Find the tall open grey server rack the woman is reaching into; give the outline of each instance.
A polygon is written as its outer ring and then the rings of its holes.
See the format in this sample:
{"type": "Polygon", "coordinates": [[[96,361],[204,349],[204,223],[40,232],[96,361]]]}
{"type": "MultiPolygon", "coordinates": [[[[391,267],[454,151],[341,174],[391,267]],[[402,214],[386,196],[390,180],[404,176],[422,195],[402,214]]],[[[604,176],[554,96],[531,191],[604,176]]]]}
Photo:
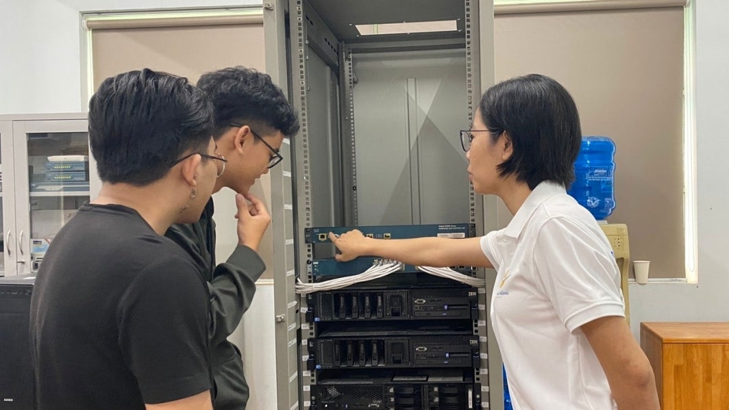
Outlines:
{"type": "MultiPolygon", "coordinates": [[[[468,312],[468,325],[461,326],[466,329],[461,335],[466,343],[477,344],[470,372],[431,367],[428,371],[436,382],[424,378],[424,366],[404,365],[368,369],[373,372],[368,377],[358,374],[348,380],[350,376],[343,377],[343,370],[334,366],[337,355],[333,352],[329,368],[321,363],[316,368],[310,360],[313,350],[334,339],[337,342],[330,347],[339,346],[340,363],[351,356],[354,367],[360,355],[364,363],[371,363],[374,346],[394,346],[388,341],[403,335],[387,336],[383,328],[356,323],[352,334],[369,332],[372,339],[369,344],[361,344],[356,337],[347,342],[346,336],[337,334],[342,328],[312,321],[312,304],[318,296],[312,299],[294,291],[297,278],[305,283],[316,280],[311,264],[319,256],[306,240],[307,229],[315,226],[467,222],[474,224],[477,234],[483,234],[484,227],[494,227],[495,221],[484,216],[483,197],[464,181],[466,162],[457,134],[471,122],[481,90],[493,83],[492,4],[279,0],[264,2],[263,7],[267,71],[278,84],[289,85],[289,99],[302,125],[290,144],[282,146],[284,157],[292,161],[271,174],[273,218],[284,221],[274,224],[273,240],[286,244],[274,247],[273,267],[278,409],[319,409],[312,401],[324,393],[354,394],[362,386],[358,383],[371,385],[376,380],[380,382],[374,390],[380,389],[379,393],[371,394],[391,400],[408,396],[405,402],[418,403],[403,409],[434,409],[438,405],[432,400],[440,400],[440,392],[455,406],[444,409],[459,409],[455,397],[469,389],[478,397],[471,403],[497,408],[489,406],[488,398],[486,288],[474,289],[475,309],[468,312]],[[457,28],[375,36],[358,35],[355,28],[360,23],[436,20],[455,20],[457,28]],[[388,118],[396,120],[388,122],[388,118]],[[398,123],[397,119],[403,120],[398,123]],[[456,184],[456,178],[461,183],[456,184]],[[334,336],[327,339],[326,331],[334,336]]],[[[494,205],[490,201],[486,200],[488,207],[494,205]]],[[[486,273],[475,275],[485,277],[486,273]]],[[[411,291],[398,283],[383,286],[373,292],[411,291]]],[[[347,292],[355,291],[343,291],[347,292]]],[[[403,340],[412,342],[417,337],[414,327],[403,340]]],[[[394,408],[405,406],[402,403],[394,408]]],[[[336,407],[332,403],[327,408],[336,407]]]]}

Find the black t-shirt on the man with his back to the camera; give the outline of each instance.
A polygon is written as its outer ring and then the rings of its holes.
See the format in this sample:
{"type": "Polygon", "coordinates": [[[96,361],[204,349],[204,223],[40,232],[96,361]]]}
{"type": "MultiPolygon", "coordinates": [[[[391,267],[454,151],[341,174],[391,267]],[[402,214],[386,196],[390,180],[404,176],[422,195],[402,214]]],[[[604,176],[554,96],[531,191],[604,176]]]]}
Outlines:
{"type": "Polygon", "coordinates": [[[135,210],[83,205],[31,299],[38,408],[144,409],[209,390],[200,269],[135,210]]]}

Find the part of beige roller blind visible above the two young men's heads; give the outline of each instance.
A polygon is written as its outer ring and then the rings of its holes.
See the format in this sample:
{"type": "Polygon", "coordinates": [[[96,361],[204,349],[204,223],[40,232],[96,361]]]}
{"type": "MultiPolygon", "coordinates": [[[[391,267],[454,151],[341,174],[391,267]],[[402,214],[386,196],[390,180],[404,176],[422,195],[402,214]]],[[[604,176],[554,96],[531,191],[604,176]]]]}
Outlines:
{"type": "Polygon", "coordinates": [[[168,71],[192,82],[200,74],[229,66],[265,70],[263,20],[111,20],[87,23],[91,30],[93,89],[104,79],[139,68],[168,71]]]}

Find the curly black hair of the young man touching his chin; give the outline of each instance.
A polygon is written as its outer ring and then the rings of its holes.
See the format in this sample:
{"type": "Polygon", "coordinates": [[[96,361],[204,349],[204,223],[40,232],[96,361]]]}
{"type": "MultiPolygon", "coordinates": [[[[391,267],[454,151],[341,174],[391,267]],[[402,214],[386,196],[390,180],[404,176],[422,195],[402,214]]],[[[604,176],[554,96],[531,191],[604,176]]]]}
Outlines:
{"type": "Polygon", "coordinates": [[[268,74],[243,66],[223,68],[200,76],[198,87],[213,103],[216,139],[230,124],[265,134],[278,130],[286,138],[299,131],[296,110],[268,74]]]}

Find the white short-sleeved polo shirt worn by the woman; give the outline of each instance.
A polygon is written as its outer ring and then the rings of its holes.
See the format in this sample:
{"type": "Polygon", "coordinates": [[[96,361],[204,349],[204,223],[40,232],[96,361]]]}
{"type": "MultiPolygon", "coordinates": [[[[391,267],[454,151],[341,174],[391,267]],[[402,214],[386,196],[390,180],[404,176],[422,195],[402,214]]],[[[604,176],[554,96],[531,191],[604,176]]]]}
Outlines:
{"type": "Polygon", "coordinates": [[[514,409],[617,409],[580,330],[625,316],[620,272],[595,218],[563,186],[542,182],[481,248],[498,272],[491,325],[514,409]]]}

